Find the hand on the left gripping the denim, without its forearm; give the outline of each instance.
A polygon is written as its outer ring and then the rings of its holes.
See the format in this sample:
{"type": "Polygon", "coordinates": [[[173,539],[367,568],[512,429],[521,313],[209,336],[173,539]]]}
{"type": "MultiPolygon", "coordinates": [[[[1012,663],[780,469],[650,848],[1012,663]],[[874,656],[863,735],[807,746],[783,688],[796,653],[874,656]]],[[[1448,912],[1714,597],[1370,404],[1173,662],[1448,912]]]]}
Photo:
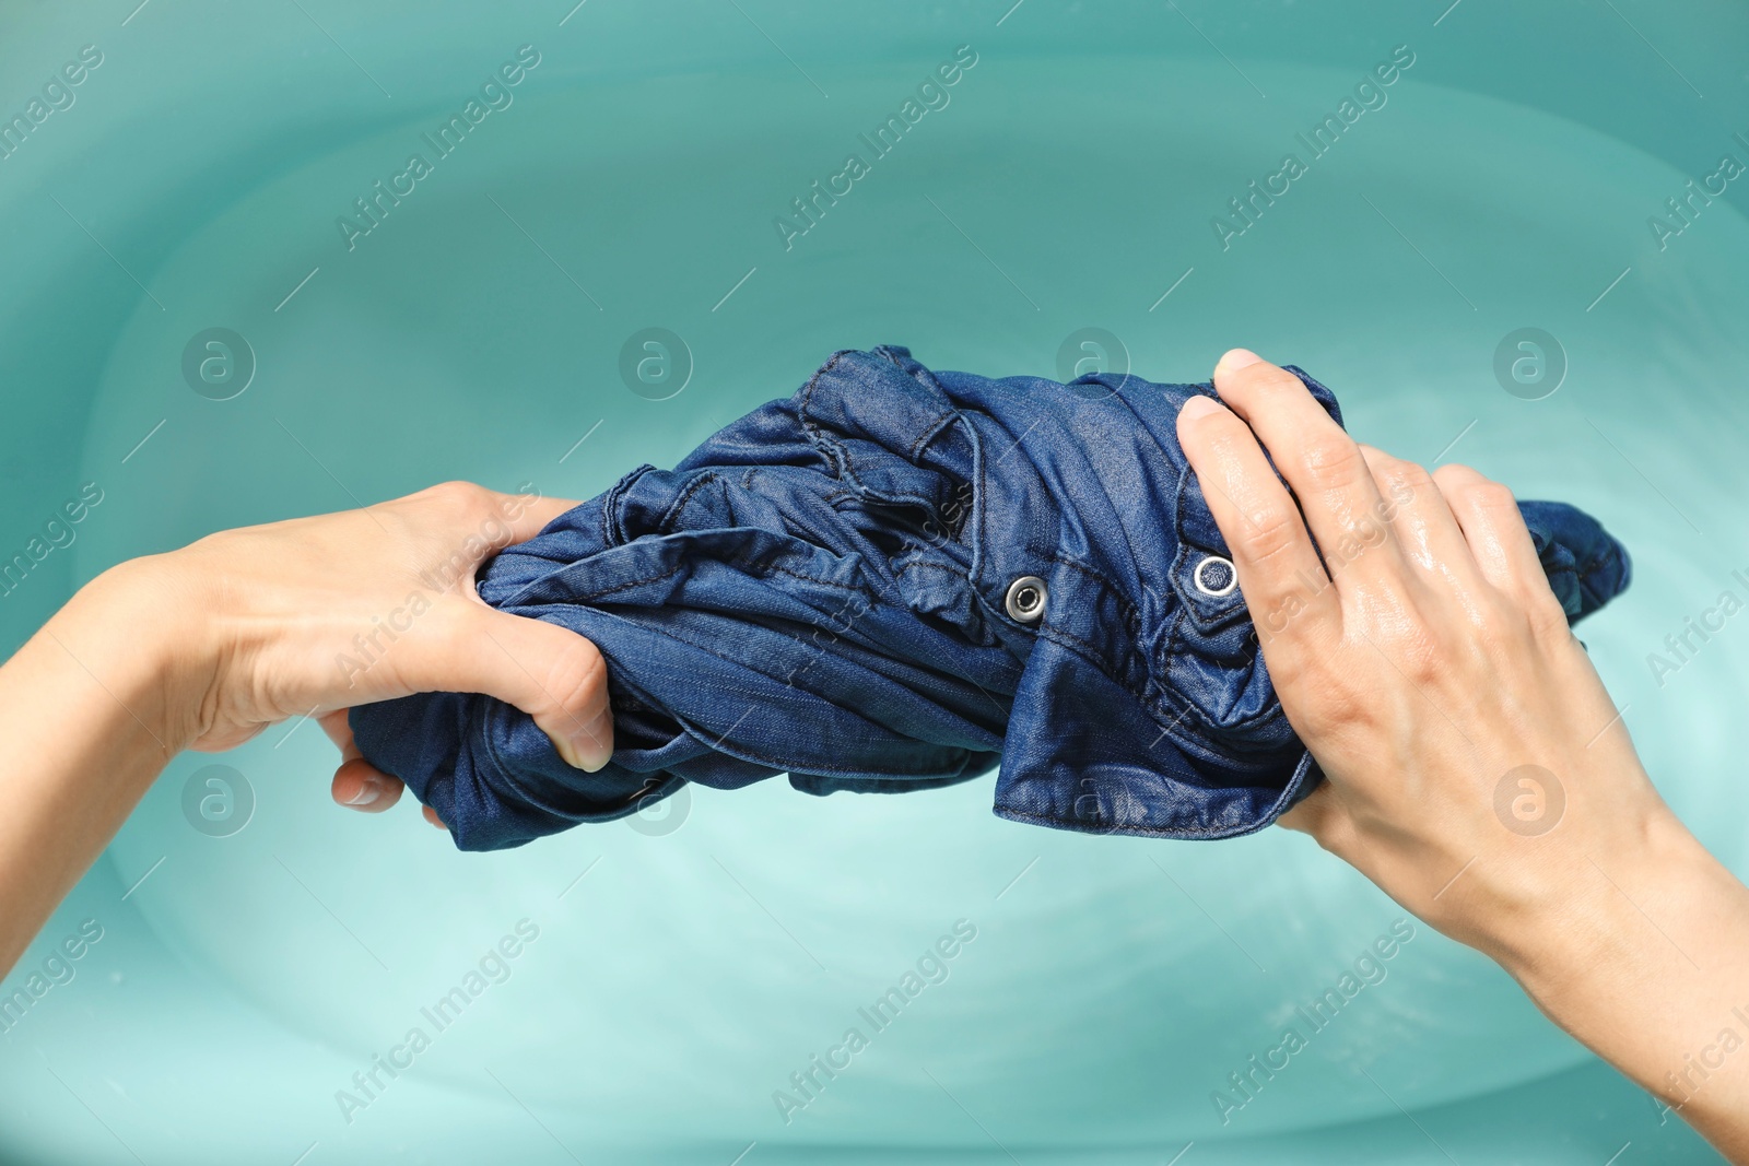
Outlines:
{"type": "Polygon", "coordinates": [[[533,717],[567,762],[600,769],[614,739],[602,654],[474,591],[486,558],[574,505],[446,482],[364,510],[220,531],[131,565],[171,610],[199,614],[187,650],[205,691],[170,732],[227,750],[313,715],[341,748],[334,801],[374,813],[402,787],[359,755],[346,710],[484,692],[533,717]]]}

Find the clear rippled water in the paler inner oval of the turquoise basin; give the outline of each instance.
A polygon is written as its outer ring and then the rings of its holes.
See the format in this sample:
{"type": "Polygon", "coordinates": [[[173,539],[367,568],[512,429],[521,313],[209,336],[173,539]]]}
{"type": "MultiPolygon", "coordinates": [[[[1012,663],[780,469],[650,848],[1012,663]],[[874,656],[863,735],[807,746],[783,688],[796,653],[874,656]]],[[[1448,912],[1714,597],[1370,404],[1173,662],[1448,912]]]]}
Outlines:
{"type": "MultiPolygon", "coordinates": [[[[733,107],[707,79],[628,82],[617,119],[523,91],[355,246],[336,215],[432,119],[311,154],[192,231],[152,278],[166,309],[115,337],[84,453],[101,523],[70,552],[96,568],[448,477],[591,496],[843,346],[1051,374],[1067,344],[1177,381],[1244,343],[1331,385],[1364,441],[1572,502],[1628,545],[1632,591],[1581,638],[1665,797],[1742,874],[1749,621],[1719,594],[1749,600],[1749,231],[1718,205],[1658,250],[1644,220],[1681,175],[1413,68],[1233,231],[1231,199],[1355,91],[1272,77],[1247,103],[1219,63],[979,59],[799,238],[773,220],[799,222],[798,192],[911,80],[840,72],[813,105],[747,75],[733,107]],[[649,149],[682,121],[687,149],[649,149]]],[[[187,809],[212,759],[184,757],[110,860],[126,886],[168,857],[129,899],[157,937],[338,1054],[280,1084],[334,1136],[394,1121],[409,1089],[383,1063],[603,1135],[988,1147],[985,1126],[1028,1147],[1329,1126],[1585,1058],[1286,832],[1090,839],[993,820],[988,780],[822,801],[771,781],[481,858],[409,809],[336,811],[313,725],[224,760],[245,827],[194,823],[224,799],[187,809]],[[539,942],[481,970],[525,921],[539,942]],[[953,958],[923,968],[943,935],[953,958]]]]}

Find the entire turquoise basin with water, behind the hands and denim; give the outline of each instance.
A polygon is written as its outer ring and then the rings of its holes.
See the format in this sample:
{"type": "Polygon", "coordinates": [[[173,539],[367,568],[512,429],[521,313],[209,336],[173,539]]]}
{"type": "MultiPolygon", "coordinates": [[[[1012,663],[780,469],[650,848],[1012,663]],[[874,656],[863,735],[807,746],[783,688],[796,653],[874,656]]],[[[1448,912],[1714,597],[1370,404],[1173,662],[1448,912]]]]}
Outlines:
{"type": "MultiPolygon", "coordinates": [[[[75,103],[0,161],[0,558],[80,484],[103,502],[0,598],[7,645],[217,528],[449,477],[591,496],[834,348],[1051,374],[1100,327],[1200,379],[1244,343],[1366,441],[1630,545],[1585,642],[1669,801],[1749,871],[1749,633],[1662,684],[1646,659],[1749,572],[1744,182],[1663,250],[1648,227],[1749,163],[1740,5],[14,2],[0,115],[87,44],[75,103]],[[348,250],[336,219],[523,44],[512,105],[348,250]],[[785,250],[773,217],[962,44],[946,108],[785,250]],[[1223,250],[1210,219],[1404,44],[1387,103],[1223,250]],[[229,400],[182,374],[213,327],[255,360],[229,400]],[[647,327],[691,355],[666,400],[621,379],[647,327]],[[1494,374],[1523,327],[1567,362],[1541,400],[1494,374]]],[[[1401,918],[1300,836],[1037,830],[988,780],[766,783],[462,855],[411,801],[336,809],[332,762],[292,722],[171,764],[5,982],[100,921],[0,1035],[0,1157],[1716,1161],[1424,927],[1223,1124],[1210,1093],[1401,918]],[[226,837],[184,815],[215,762],[254,792],[226,837]],[[348,1122],[352,1073],[519,920],[509,979],[348,1122]],[[948,979],[785,1124],[773,1091],[957,920],[948,979]]]]}

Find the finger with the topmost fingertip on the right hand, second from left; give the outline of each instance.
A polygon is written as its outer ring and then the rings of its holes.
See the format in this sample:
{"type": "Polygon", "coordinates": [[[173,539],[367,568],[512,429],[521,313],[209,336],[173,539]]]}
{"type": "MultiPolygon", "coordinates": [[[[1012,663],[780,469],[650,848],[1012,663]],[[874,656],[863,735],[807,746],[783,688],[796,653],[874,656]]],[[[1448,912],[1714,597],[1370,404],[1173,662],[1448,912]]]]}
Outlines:
{"type": "MultiPolygon", "coordinates": [[[[1373,474],[1354,439],[1313,400],[1300,378],[1244,348],[1221,357],[1214,369],[1214,386],[1221,400],[1251,425],[1270,451],[1275,468],[1298,495],[1312,537],[1324,552],[1354,545],[1348,540],[1361,538],[1362,523],[1380,507],[1373,474]]],[[[1355,556],[1362,579],[1399,565],[1390,537],[1383,538],[1376,552],[1355,556]]],[[[1333,579],[1338,591],[1343,589],[1343,580],[1333,579]]]]}

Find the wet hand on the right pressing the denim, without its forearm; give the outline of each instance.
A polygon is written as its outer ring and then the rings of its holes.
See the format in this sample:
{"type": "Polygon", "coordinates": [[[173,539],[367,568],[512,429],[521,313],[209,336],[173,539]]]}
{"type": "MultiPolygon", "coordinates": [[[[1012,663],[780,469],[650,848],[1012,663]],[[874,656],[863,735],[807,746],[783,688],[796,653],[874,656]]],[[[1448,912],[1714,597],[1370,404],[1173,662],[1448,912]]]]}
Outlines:
{"type": "Polygon", "coordinates": [[[1249,353],[1223,358],[1216,390],[1228,409],[1191,399],[1181,441],[1287,718],[1329,776],[1282,825],[1483,949],[1513,940],[1572,858],[1637,853],[1669,825],[1509,489],[1355,444],[1249,353]]]}

